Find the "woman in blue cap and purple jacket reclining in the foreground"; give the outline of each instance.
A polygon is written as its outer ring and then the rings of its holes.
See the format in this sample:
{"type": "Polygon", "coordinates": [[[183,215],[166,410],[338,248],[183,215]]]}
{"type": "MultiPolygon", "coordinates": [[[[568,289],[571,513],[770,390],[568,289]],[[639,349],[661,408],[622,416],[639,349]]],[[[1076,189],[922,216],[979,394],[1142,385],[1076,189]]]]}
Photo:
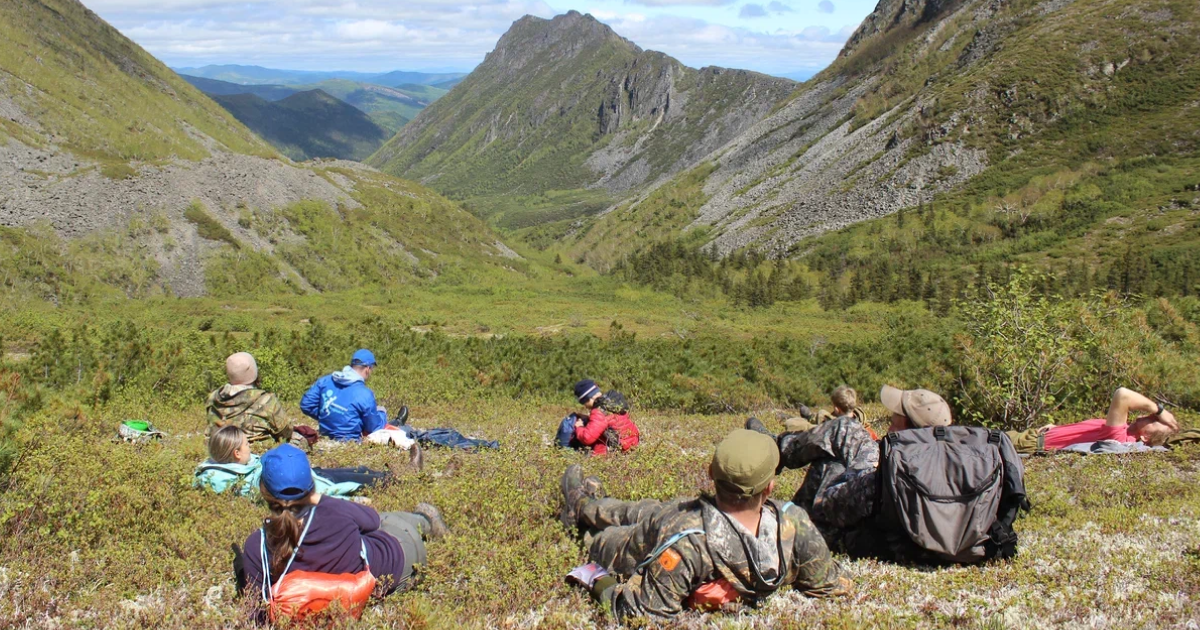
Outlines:
{"type": "MultiPolygon", "coordinates": [[[[383,594],[407,590],[426,562],[425,540],[448,533],[437,508],[419,503],[412,512],[383,512],[326,497],[318,492],[312,468],[304,451],[290,445],[263,455],[259,488],[270,508],[263,527],[246,539],[241,556],[234,559],[238,590],[250,588],[270,605],[274,599],[298,588],[284,583],[298,571],[353,577],[370,569],[383,594]],[[349,574],[349,575],[347,575],[349,574]]],[[[366,590],[370,595],[371,589],[366,590]]],[[[343,602],[353,608],[354,604],[343,602]]]]}

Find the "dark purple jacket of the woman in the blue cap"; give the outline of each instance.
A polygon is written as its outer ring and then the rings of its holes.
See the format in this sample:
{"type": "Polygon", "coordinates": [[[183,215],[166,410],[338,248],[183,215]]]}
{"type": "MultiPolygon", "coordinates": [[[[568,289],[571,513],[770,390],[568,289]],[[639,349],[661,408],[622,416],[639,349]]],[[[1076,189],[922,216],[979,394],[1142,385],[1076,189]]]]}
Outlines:
{"type": "MultiPolygon", "coordinates": [[[[335,497],[320,497],[316,512],[304,512],[301,520],[316,514],[289,571],[356,574],[362,570],[361,545],[366,542],[371,574],[394,590],[404,570],[404,551],[391,534],[379,529],[379,512],[335,497]]],[[[256,529],[246,538],[245,568],[250,593],[263,588],[262,535],[256,529]]],[[[271,583],[280,580],[272,575],[271,583]]]]}

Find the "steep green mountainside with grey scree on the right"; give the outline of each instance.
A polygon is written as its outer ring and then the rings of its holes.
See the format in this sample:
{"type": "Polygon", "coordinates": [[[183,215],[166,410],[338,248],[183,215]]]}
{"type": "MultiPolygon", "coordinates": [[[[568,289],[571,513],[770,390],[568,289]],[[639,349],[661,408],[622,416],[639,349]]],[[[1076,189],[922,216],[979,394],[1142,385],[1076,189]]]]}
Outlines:
{"type": "Polygon", "coordinates": [[[788,256],[829,304],[949,304],[1013,263],[1194,294],[1198,95],[1194,2],[884,0],[704,172],[564,242],[601,269],[638,235],[788,256]]]}

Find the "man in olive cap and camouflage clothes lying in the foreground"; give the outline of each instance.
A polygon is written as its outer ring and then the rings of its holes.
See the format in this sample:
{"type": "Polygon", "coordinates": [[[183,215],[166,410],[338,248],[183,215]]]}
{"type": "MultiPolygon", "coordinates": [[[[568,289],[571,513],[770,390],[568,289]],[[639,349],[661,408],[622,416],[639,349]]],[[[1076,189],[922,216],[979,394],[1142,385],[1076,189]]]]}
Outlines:
{"type": "Polygon", "coordinates": [[[708,467],[715,494],[673,502],[605,498],[600,480],[572,464],[560,518],[588,534],[590,563],[568,581],[618,618],[737,610],[785,586],[810,596],[847,593],[851,582],[804,510],[770,499],[778,463],[773,440],[734,431],[708,467]]]}

